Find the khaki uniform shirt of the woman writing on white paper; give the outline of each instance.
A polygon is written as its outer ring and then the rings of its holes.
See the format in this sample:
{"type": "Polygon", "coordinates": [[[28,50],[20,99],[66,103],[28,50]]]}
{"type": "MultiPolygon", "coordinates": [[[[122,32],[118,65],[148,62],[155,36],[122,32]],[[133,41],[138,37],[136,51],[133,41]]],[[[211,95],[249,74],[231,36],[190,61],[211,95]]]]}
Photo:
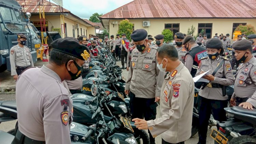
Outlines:
{"type": "MultiPolygon", "coordinates": [[[[196,76],[200,75],[200,71],[209,71],[209,74],[212,75],[213,71],[217,68],[219,63],[221,63],[223,59],[221,56],[218,56],[216,59],[211,60],[209,58],[202,59],[199,63],[196,76]]],[[[234,83],[233,80],[233,72],[230,65],[230,62],[228,60],[225,60],[222,66],[217,70],[217,73],[214,75],[215,80],[210,81],[211,83],[217,83],[224,86],[229,86],[234,83]],[[224,78],[226,77],[226,78],[224,78]]],[[[228,96],[223,96],[222,94],[222,88],[212,88],[205,86],[202,90],[202,87],[199,90],[199,95],[201,97],[207,98],[207,99],[215,99],[215,100],[227,100],[228,96]]]]}

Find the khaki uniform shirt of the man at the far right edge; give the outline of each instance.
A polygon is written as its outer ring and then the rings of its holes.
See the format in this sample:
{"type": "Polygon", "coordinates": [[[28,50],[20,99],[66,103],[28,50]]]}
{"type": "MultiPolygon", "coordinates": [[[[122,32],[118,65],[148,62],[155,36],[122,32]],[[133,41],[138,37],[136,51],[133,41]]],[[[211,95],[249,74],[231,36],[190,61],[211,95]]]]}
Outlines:
{"type": "Polygon", "coordinates": [[[232,95],[233,99],[236,99],[236,97],[249,98],[246,102],[250,102],[256,108],[256,58],[254,57],[238,67],[232,95]],[[252,84],[248,84],[250,82],[252,84]]]}

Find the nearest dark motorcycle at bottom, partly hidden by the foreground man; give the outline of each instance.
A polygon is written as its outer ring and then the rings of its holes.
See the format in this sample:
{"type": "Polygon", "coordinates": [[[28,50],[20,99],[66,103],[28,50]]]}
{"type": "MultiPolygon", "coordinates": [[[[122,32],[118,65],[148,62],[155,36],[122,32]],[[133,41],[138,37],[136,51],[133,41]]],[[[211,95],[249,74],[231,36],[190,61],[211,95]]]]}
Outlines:
{"type": "MultiPolygon", "coordinates": [[[[94,92],[97,94],[96,89],[94,92]]],[[[72,122],[70,128],[72,144],[137,144],[133,136],[133,129],[126,119],[121,119],[122,121],[120,121],[117,118],[112,118],[108,123],[105,123],[104,119],[101,121],[99,118],[103,115],[100,107],[90,105],[90,111],[92,113],[91,119],[97,119],[96,123],[85,126],[72,122]]],[[[1,101],[0,123],[15,119],[17,119],[16,101],[1,101]]],[[[11,131],[4,132],[0,130],[0,143],[10,144],[14,139],[16,130],[17,123],[16,128],[11,131]]]]}

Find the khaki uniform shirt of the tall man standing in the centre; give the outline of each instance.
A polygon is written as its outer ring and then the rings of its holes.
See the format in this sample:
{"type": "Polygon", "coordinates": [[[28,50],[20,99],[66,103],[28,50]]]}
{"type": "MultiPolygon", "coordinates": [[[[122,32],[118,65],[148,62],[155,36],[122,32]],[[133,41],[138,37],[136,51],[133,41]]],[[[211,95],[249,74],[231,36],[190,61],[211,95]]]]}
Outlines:
{"type": "Polygon", "coordinates": [[[133,49],[125,90],[140,98],[160,97],[163,72],[157,68],[157,63],[155,48],[149,47],[144,53],[133,49]]]}

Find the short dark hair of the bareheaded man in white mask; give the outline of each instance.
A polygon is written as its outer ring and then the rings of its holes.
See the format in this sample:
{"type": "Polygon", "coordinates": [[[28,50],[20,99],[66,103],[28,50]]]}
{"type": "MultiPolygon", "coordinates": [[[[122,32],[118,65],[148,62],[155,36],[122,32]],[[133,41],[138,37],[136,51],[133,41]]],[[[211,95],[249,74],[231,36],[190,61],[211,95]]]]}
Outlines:
{"type": "Polygon", "coordinates": [[[174,45],[162,45],[157,49],[158,57],[163,58],[164,56],[168,57],[172,61],[179,59],[179,54],[174,45]]]}

